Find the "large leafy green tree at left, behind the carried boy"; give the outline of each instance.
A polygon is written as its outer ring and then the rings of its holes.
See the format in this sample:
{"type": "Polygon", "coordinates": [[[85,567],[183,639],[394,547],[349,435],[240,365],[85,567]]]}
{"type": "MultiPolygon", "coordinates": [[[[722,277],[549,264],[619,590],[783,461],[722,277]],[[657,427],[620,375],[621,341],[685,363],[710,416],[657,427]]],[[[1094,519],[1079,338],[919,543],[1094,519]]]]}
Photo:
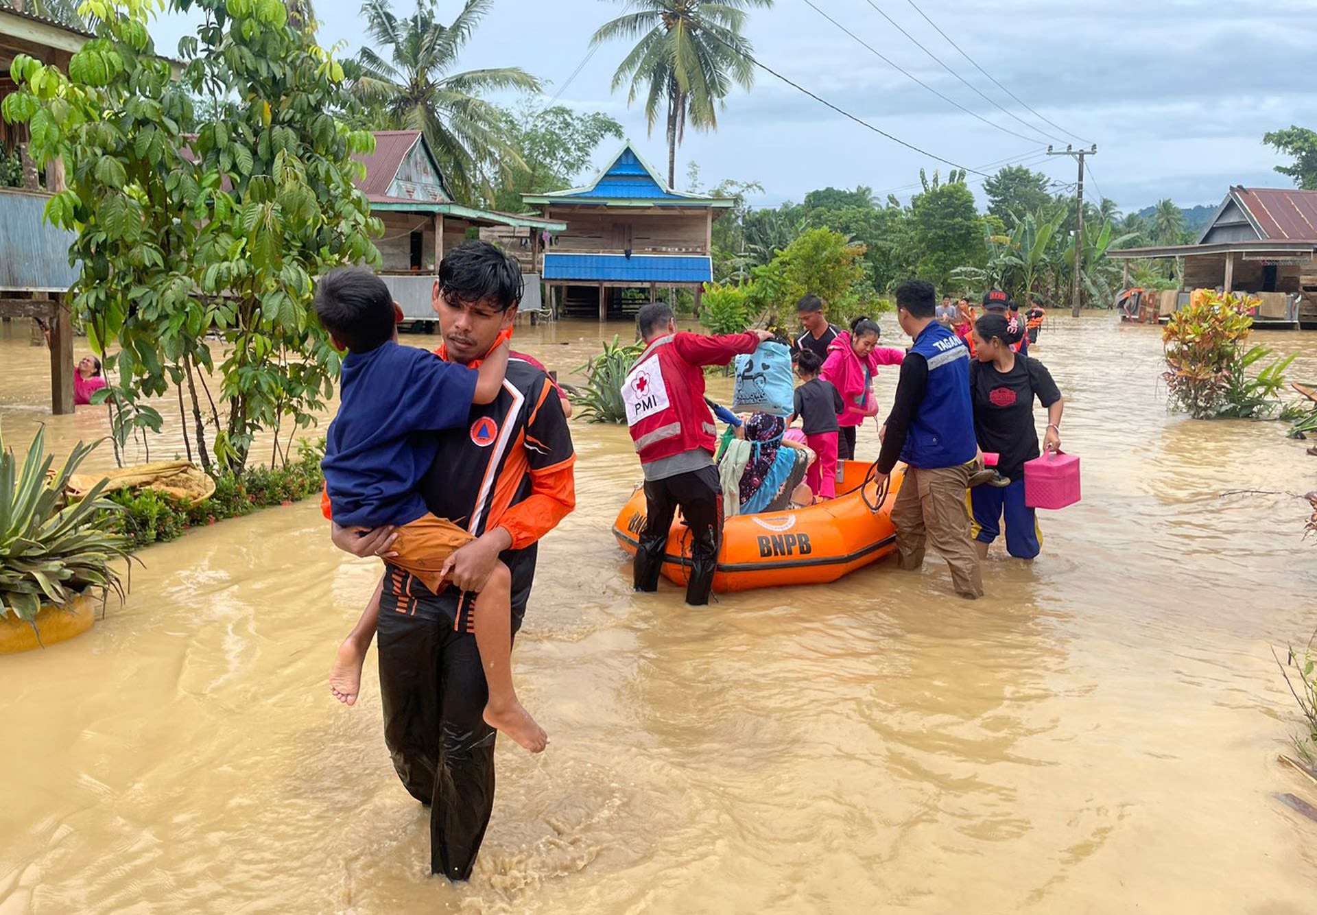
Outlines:
{"type": "Polygon", "coordinates": [[[170,0],[202,17],[179,43],[180,76],[148,33],[155,5],[88,0],[97,38],[67,76],[20,55],[4,116],[30,125],[40,162],[70,165],[46,217],[76,233],[72,304],[113,379],[97,402],[112,404],[116,442],[158,432],[146,398],[174,386],[191,407],[188,450],[241,471],[258,433],[309,425],[333,391],[338,357],[309,309],[311,278],[378,259],[352,161],[374,141],[328,113],[350,101],[342,67],[279,0],[170,0]],[[207,118],[196,96],[232,104],[207,118]]]}

